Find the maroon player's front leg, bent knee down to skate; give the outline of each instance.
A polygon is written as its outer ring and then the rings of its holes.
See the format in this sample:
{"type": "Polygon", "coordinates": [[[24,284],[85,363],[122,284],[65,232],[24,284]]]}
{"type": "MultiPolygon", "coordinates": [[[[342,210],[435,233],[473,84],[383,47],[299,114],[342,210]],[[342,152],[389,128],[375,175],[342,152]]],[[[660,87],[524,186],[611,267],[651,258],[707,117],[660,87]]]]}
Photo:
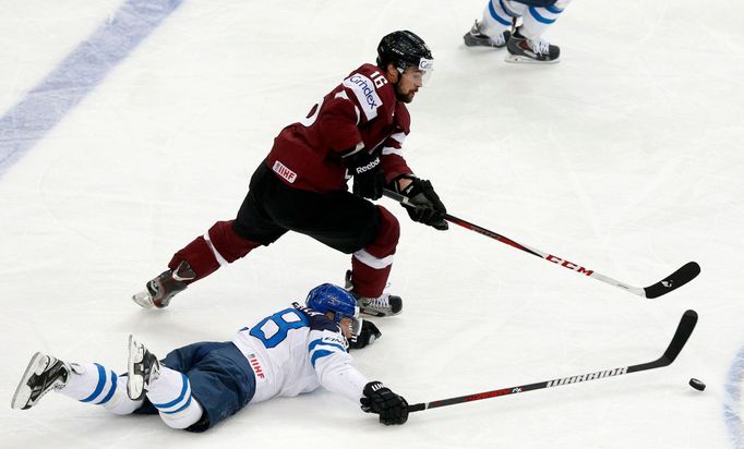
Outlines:
{"type": "Polygon", "coordinates": [[[403,311],[400,296],[384,293],[393,267],[395,247],[400,236],[398,220],[383,207],[375,240],[351,256],[351,270],[346,275],[346,289],[362,312],[375,316],[397,315],[403,311]]]}

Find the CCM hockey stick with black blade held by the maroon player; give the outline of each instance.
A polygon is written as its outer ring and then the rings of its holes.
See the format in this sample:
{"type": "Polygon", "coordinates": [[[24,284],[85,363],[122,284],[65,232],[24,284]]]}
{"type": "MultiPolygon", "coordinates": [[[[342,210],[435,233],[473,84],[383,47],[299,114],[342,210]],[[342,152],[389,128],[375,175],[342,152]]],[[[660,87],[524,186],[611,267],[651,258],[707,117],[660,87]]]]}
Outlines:
{"type": "MultiPolygon", "coordinates": [[[[384,195],[391,199],[395,199],[396,202],[398,202],[400,204],[410,205],[412,207],[416,207],[415,205],[412,205],[408,202],[408,198],[406,196],[400,195],[399,193],[396,193],[396,192],[393,192],[389,190],[385,190],[384,195]]],[[[493,240],[497,240],[501,243],[505,243],[509,246],[516,247],[517,250],[521,250],[525,253],[531,254],[533,256],[538,256],[540,258],[544,258],[548,262],[552,262],[553,264],[568,268],[568,269],[574,270],[580,275],[588,276],[592,279],[600,280],[602,282],[609,283],[610,286],[617,287],[617,288],[623,289],[625,291],[628,291],[633,294],[637,294],[638,296],[644,296],[644,298],[648,298],[648,299],[659,298],[662,294],[667,294],[673,290],[676,290],[680,287],[684,286],[685,283],[689,282],[691,280],[695,279],[695,277],[697,277],[697,275],[700,274],[700,266],[697,265],[696,262],[688,262],[685,265],[683,265],[680,269],[672,272],[668,277],[663,278],[659,282],[641,289],[638,287],[629,286],[625,282],[621,282],[616,279],[612,279],[611,277],[604,276],[601,272],[597,272],[595,270],[587,269],[580,265],[574,264],[573,262],[568,262],[568,260],[564,259],[563,257],[559,257],[556,255],[549,254],[549,253],[545,253],[543,251],[536,250],[533,247],[529,247],[527,245],[523,245],[520,243],[515,242],[512,239],[508,239],[504,235],[497,234],[493,231],[489,231],[485,228],[481,228],[478,225],[473,225],[469,221],[465,221],[461,218],[457,218],[453,215],[444,214],[443,218],[445,220],[449,221],[451,223],[455,223],[455,225],[461,226],[463,228],[478,232],[479,234],[490,236],[493,240]]]]}

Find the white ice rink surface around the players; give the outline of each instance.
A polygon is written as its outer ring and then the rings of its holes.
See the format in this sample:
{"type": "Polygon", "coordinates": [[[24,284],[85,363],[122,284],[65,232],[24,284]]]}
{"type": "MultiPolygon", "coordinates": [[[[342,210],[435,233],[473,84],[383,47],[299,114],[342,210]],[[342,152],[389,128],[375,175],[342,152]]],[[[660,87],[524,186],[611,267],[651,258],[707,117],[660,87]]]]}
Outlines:
{"type": "Polygon", "coordinates": [[[0,447],[744,448],[744,3],[576,0],[550,66],[466,48],[484,5],[0,0],[0,447]],[[348,256],[287,234],[165,311],[130,301],[235,217],[284,125],[405,28],[436,60],[405,151],[453,215],[634,286],[703,272],[646,300],[381,199],[401,223],[405,312],[376,320],[358,367],[432,401],[651,361],[694,308],[674,364],[400,427],[325,391],[201,435],[53,393],[10,409],[35,351],[125,371],[130,332],[165,355],[341,282],[348,256]]]}

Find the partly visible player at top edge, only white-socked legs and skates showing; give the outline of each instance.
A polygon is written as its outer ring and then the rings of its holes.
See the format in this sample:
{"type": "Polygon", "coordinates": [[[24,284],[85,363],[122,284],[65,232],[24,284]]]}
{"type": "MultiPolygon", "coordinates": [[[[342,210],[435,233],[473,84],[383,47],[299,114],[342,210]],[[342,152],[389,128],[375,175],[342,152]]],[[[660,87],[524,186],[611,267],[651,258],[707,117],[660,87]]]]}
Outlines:
{"type": "Polygon", "coordinates": [[[561,49],[542,38],[543,33],[571,0],[489,0],[483,19],[463,38],[468,47],[506,47],[507,62],[559,62],[561,49]],[[521,25],[514,26],[521,20],[521,25]],[[514,29],[513,29],[514,26],[514,29]]]}

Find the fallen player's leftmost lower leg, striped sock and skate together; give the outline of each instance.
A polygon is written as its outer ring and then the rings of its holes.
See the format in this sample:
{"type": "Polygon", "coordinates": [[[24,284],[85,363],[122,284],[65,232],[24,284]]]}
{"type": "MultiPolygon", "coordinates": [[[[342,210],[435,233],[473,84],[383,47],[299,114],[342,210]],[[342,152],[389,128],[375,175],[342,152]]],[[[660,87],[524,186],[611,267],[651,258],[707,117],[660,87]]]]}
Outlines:
{"type": "Polygon", "coordinates": [[[127,396],[127,378],[97,363],[64,363],[37,352],[31,359],[11,402],[13,409],[31,409],[49,391],[80,402],[103,405],[116,414],[130,414],[142,405],[127,396]]]}

